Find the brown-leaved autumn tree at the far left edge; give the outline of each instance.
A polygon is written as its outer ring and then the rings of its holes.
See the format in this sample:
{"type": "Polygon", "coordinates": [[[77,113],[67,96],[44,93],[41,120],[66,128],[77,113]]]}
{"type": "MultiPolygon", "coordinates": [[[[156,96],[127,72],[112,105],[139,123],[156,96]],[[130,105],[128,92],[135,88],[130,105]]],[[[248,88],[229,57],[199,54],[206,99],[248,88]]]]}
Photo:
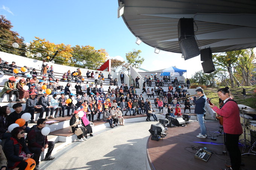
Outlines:
{"type": "Polygon", "coordinates": [[[0,15],[0,51],[25,56],[26,46],[23,43],[24,38],[19,38],[18,36],[20,35],[12,31],[12,27],[11,21],[7,20],[5,16],[0,15]],[[14,42],[19,44],[18,48],[12,47],[14,42]]]}

